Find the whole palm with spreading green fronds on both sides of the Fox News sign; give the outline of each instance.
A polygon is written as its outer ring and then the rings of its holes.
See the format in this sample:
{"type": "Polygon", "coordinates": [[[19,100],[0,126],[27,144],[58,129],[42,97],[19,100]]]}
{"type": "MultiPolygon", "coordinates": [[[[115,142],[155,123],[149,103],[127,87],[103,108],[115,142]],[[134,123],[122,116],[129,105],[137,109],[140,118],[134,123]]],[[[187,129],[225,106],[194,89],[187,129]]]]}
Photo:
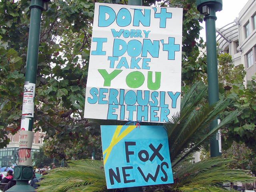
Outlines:
{"type": "MultiPolygon", "coordinates": [[[[246,170],[228,169],[230,159],[209,158],[197,163],[189,163],[191,155],[208,144],[210,137],[222,126],[228,124],[238,111],[226,116],[220,124],[209,132],[209,123],[218,116],[230,100],[220,100],[212,106],[203,106],[207,87],[194,84],[183,96],[180,113],[166,123],[174,184],[146,186],[147,192],[196,192],[226,191],[223,182],[253,182],[255,179],[246,170]]],[[[102,161],[77,160],[70,162],[68,168],[51,170],[40,182],[38,192],[104,192],[106,180],[102,161]]],[[[116,189],[114,191],[122,191],[116,189]]]]}

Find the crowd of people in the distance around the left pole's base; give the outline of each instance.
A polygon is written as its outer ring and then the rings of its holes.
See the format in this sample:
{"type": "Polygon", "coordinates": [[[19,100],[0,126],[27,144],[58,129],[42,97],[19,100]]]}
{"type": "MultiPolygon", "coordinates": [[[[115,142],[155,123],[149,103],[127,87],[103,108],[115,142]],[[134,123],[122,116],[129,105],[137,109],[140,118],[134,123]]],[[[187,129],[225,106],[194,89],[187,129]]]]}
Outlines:
{"type": "MultiPolygon", "coordinates": [[[[34,187],[35,189],[38,188],[38,186],[39,186],[38,182],[40,180],[42,180],[42,177],[36,178],[36,173],[40,174],[41,176],[43,176],[43,175],[47,174],[48,170],[54,169],[54,168],[56,168],[54,163],[52,163],[52,168],[50,168],[50,166],[44,166],[42,169],[36,168],[35,170],[33,170],[33,178],[29,182],[29,184],[32,187],[34,187]]],[[[7,170],[7,168],[6,168],[4,170],[4,172],[6,172],[5,176],[0,173],[0,183],[7,183],[5,188],[4,188],[4,192],[5,192],[6,190],[11,188],[12,186],[16,185],[16,180],[13,179],[13,171],[11,169],[7,170]]]]}

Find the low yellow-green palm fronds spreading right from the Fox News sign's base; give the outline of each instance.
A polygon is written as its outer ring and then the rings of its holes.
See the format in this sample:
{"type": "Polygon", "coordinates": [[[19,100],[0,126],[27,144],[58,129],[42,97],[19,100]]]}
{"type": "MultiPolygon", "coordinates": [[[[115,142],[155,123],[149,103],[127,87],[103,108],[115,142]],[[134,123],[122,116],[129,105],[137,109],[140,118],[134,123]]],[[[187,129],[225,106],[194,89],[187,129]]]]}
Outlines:
{"type": "Polygon", "coordinates": [[[224,182],[254,182],[256,180],[246,170],[228,169],[227,165],[232,161],[215,157],[188,166],[179,164],[174,173],[174,184],[159,186],[154,190],[148,186],[146,192],[223,192],[227,191],[222,187],[224,182]]]}

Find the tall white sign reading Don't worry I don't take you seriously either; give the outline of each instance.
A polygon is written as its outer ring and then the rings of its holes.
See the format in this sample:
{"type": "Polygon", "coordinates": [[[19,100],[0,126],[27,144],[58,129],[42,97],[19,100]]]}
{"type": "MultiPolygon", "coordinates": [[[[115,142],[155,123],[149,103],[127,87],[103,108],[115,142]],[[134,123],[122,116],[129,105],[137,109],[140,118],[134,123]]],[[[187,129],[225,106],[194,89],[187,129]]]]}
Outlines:
{"type": "Polygon", "coordinates": [[[180,111],[182,8],[95,4],[85,118],[167,122],[180,111]]]}

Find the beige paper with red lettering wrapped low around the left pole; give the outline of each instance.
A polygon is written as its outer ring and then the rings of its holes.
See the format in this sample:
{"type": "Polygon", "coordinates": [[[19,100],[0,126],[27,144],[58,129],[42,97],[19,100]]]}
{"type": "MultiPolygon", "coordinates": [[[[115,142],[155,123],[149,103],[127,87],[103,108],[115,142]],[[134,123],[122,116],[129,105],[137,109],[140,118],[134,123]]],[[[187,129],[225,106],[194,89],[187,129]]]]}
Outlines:
{"type": "Polygon", "coordinates": [[[19,163],[18,165],[32,166],[32,142],[34,132],[20,131],[19,163]]]}

